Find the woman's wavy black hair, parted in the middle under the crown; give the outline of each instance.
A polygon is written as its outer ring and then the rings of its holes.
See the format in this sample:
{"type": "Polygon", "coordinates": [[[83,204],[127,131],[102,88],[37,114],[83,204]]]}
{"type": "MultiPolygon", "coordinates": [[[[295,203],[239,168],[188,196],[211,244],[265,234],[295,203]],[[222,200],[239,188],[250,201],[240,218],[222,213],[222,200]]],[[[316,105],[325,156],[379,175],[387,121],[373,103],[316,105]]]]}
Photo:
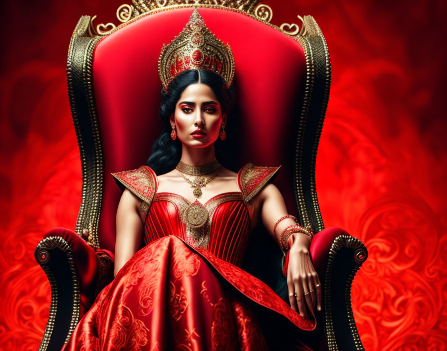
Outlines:
{"type": "Polygon", "coordinates": [[[208,85],[214,92],[221,104],[222,114],[226,113],[227,122],[225,124],[225,132],[227,139],[223,142],[220,138],[215,143],[216,158],[225,167],[235,170],[234,158],[230,155],[235,155],[231,150],[236,150],[234,146],[235,133],[232,128],[234,125],[234,88],[233,85],[227,89],[224,78],[219,74],[209,70],[192,69],[180,73],[174,78],[168,86],[168,92],[162,88],[161,90],[161,104],[159,110],[159,118],[162,121],[162,132],[160,137],[154,142],[151,149],[151,154],[146,162],[157,175],[162,175],[172,171],[180,161],[182,156],[182,143],[179,139],[171,139],[171,124],[170,117],[174,113],[176,104],[180,99],[183,91],[190,85],[200,82],[208,85]],[[233,142],[231,142],[233,141],[233,142]],[[232,145],[232,146],[231,146],[232,145]]]}

